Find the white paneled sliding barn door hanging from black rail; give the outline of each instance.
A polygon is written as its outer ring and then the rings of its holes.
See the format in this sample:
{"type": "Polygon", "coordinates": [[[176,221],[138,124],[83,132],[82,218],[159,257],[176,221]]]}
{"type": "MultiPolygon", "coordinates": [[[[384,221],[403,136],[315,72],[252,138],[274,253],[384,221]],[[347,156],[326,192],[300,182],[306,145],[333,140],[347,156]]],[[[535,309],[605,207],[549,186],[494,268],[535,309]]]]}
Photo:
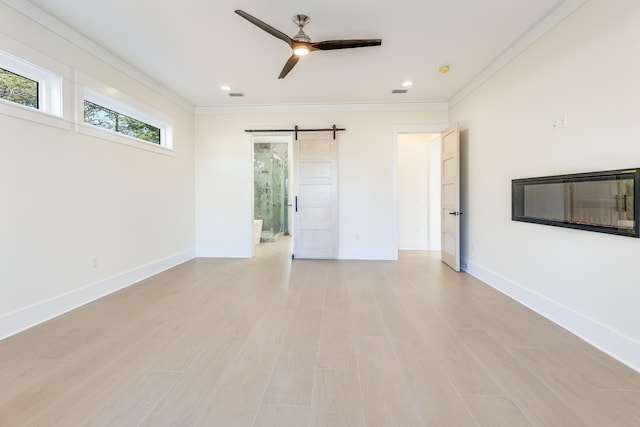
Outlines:
{"type": "Polygon", "coordinates": [[[295,144],[293,255],[338,257],[338,144],[333,132],[301,132],[295,144]]]}

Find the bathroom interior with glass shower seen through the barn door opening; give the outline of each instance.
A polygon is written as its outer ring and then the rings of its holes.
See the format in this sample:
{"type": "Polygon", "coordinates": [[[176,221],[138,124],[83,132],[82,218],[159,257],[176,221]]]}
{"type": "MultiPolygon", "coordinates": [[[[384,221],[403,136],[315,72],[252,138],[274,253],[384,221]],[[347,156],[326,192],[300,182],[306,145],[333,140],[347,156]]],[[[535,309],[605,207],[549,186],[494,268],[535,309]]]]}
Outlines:
{"type": "Polygon", "coordinates": [[[254,245],[290,234],[289,144],[254,142],[254,245]]]}

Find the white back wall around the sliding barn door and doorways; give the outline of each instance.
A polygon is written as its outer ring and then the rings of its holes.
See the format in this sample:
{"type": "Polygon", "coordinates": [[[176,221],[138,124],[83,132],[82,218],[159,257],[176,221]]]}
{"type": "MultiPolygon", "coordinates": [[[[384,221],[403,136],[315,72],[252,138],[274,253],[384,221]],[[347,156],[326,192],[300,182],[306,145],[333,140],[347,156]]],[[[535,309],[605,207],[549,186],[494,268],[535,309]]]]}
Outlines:
{"type": "MultiPolygon", "coordinates": [[[[313,108],[310,108],[313,110],[313,108]]],[[[298,109],[300,110],[300,109],[298,109]]],[[[320,109],[319,109],[320,110],[320,109]]],[[[346,128],[338,138],[339,257],[395,259],[393,127],[447,123],[440,111],[196,114],[196,246],[199,256],[251,256],[251,137],[245,129],[346,128]]]]}

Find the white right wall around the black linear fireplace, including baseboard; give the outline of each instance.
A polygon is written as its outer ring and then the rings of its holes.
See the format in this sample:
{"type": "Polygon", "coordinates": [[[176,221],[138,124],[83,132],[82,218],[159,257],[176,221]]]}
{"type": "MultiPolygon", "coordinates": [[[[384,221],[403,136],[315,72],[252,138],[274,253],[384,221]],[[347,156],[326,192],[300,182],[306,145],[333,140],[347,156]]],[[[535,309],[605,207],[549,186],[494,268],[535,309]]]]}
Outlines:
{"type": "Polygon", "coordinates": [[[640,240],[513,222],[510,183],[640,167],[639,18],[637,0],[591,0],[451,110],[468,271],[636,369],[640,240]]]}

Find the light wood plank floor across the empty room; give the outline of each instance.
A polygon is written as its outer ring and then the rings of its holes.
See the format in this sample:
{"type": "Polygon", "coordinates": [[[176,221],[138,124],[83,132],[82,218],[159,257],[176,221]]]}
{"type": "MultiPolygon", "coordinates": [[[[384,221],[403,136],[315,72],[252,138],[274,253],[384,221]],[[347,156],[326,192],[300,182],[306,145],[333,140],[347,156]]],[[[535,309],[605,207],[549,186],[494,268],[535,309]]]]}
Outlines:
{"type": "Polygon", "coordinates": [[[0,341],[0,426],[639,426],[640,374],[438,254],[195,259],[0,341]]]}

